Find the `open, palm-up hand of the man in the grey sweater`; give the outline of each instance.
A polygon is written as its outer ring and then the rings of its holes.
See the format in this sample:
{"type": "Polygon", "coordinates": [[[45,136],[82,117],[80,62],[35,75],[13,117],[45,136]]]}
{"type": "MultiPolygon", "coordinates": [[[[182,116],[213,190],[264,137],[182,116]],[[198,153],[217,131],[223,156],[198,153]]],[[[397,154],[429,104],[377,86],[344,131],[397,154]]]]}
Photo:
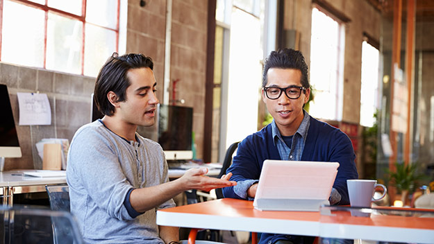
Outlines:
{"type": "Polygon", "coordinates": [[[205,175],[206,173],[208,173],[208,168],[190,168],[178,180],[182,182],[181,186],[185,191],[191,189],[210,191],[211,189],[235,186],[237,184],[237,182],[229,181],[232,173],[223,175],[221,179],[208,177],[205,175]]]}

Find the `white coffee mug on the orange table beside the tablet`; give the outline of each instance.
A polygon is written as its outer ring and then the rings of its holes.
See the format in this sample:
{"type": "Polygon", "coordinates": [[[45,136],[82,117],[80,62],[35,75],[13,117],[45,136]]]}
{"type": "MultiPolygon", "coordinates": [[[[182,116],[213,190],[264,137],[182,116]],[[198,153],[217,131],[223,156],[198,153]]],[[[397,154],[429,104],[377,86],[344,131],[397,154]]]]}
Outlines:
{"type": "Polygon", "coordinates": [[[347,180],[347,186],[351,207],[371,207],[372,201],[383,199],[387,193],[386,186],[377,184],[376,180],[347,180]],[[383,188],[380,198],[374,198],[377,186],[383,188]]]}

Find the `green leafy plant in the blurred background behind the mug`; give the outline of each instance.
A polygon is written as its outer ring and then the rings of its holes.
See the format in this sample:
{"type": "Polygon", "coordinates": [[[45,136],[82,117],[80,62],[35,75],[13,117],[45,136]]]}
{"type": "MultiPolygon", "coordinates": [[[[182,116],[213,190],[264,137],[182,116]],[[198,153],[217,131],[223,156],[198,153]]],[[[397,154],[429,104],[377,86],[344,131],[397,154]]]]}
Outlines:
{"type": "Polygon", "coordinates": [[[394,186],[398,193],[401,193],[401,201],[406,204],[408,194],[411,194],[417,189],[420,184],[420,180],[424,175],[417,171],[417,163],[405,164],[405,163],[395,163],[395,170],[386,170],[388,173],[387,179],[390,185],[394,186]]]}

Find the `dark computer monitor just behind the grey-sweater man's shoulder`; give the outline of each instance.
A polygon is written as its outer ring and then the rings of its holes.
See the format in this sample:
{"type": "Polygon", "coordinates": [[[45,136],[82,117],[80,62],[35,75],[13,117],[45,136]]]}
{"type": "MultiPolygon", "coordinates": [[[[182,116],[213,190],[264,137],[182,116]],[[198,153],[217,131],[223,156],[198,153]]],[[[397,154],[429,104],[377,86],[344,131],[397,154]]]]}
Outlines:
{"type": "Polygon", "coordinates": [[[167,160],[193,159],[193,108],[158,106],[158,143],[167,160]]]}

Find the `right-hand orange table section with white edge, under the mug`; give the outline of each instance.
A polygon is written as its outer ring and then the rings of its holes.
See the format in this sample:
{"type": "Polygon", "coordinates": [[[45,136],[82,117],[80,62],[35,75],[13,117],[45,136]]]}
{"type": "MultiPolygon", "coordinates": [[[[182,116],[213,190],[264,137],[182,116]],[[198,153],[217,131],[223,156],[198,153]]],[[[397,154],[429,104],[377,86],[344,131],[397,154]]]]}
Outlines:
{"type": "Polygon", "coordinates": [[[375,207],[322,207],[319,236],[399,243],[434,243],[434,211],[375,207]],[[352,211],[352,213],[351,213],[352,211]],[[367,217],[356,217],[365,211],[367,217]]]}

